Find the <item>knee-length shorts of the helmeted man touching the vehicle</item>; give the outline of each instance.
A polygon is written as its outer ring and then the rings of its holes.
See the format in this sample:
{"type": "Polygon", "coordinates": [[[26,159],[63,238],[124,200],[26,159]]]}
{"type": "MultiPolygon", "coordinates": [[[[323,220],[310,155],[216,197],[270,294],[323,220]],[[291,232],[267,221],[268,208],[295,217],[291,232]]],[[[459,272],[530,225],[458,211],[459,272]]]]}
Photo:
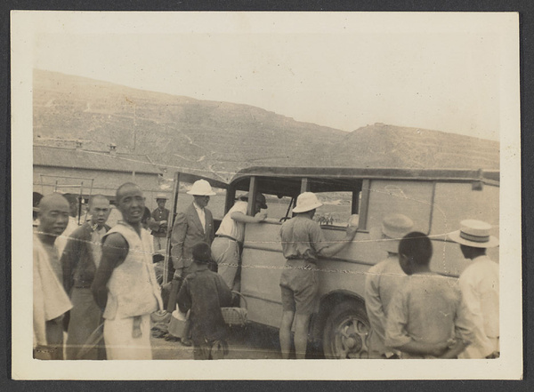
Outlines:
{"type": "Polygon", "coordinates": [[[318,270],[304,260],[287,260],[280,276],[282,308],[297,315],[312,315],[317,308],[318,270]]]}

